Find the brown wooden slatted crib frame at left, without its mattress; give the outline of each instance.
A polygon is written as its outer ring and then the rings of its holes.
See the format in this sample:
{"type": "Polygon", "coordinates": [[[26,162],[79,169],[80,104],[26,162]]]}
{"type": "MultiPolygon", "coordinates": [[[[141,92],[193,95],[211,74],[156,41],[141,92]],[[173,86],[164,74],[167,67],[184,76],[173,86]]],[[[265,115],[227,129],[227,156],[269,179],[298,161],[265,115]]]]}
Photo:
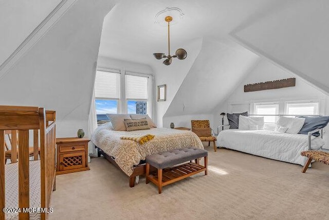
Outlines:
{"type": "MultiPolygon", "coordinates": [[[[29,206],[29,130],[33,130],[33,158],[38,158],[40,144],[41,166],[41,207],[50,208],[51,192],[56,189],[56,112],[45,111],[40,107],[0,106],[0,220],[5,219],[2,211],[5,201],[5,133],[11,130],[18,133],[19,167],[19,207],[29,206]],[[40,137],[39,137],[40,133],[40,137]]],[[[16,137],[12,136],[12,162],[17,162],[16,137]]],[[[16,207],[14,207],[16,208],[16,207]]],[[[29,219],[29,213],[19,213],[19,219],[29,219]]],[[[47,213],[41,213],[41,219],[47,219],[47,213]]]]}

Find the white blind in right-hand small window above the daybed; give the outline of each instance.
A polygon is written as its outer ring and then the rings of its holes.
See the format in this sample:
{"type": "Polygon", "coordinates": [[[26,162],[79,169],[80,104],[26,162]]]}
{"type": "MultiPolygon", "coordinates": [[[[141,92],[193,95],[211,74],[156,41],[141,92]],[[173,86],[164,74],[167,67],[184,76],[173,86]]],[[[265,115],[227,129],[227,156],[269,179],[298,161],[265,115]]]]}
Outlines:
{"type": "Polygon", "coordinates": [[[319,102],[286,103],[287,115],[319,115],[319,102]]]}

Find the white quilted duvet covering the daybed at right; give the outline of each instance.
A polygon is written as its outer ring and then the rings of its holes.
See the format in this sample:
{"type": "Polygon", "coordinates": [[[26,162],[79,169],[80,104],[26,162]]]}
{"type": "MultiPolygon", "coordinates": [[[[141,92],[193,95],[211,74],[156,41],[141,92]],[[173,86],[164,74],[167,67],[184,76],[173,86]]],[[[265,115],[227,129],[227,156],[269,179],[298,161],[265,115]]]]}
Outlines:
{"type": "MultiPolygon", "coordinates": [[[[324,145],[323,140],[315,136],[311,143],[312,150],[324,145]]],[[[308,137],[268,130],[229,129],[218,134],[217,146],[303,166],[307,158],[300,152],[308,150],[308,137]]]]}

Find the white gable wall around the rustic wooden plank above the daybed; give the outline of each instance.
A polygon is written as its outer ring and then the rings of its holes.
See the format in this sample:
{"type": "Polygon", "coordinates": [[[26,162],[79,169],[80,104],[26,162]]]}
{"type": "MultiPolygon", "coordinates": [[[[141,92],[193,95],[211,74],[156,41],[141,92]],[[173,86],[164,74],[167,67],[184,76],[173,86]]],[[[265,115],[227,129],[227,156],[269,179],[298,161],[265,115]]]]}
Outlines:
{"type": "MultiPolygon", "coordinates": [[[[220,103],[216,106],[213,113],[215,125],[222,124],[222,116],[220,113],[230,113],[229,105],[238,103],[251,103],[251,102],[266,102],[266,101],[287,101],[287,100],[309,100],[319,99],[322,106],[320,114],[329,115],[329,97],[317,89],[314,85],[305,82],[300,77],[291,75],[290,72],[273,65],[269,61],[263,59],[258,63],[257,66],[250,72],[250,74],[243,79],[242,83],[236,87],[234,92],[226,99],[225,102],[220,103]],[[286,79],[296,77],[296,86],[280,88],[280,89],[269,89],[262,91],[251,91],[248,93],[244,92],[244,85],[250,83],[266,82],[272,80],[286,79]]],[[[250,112],[250,111],[249,111],[250,112]]],[[[283,114],[283,113],[282,113],[283,114]]],[[[224,124],[227,123],[225,117],[224,124]]],[[[326,127],[326,133],[329,133],[328,127],[326,127]]],[[[329,148],[329,136],[325,134],[324,140],[326,142],[326,148],[329,148]]]]}

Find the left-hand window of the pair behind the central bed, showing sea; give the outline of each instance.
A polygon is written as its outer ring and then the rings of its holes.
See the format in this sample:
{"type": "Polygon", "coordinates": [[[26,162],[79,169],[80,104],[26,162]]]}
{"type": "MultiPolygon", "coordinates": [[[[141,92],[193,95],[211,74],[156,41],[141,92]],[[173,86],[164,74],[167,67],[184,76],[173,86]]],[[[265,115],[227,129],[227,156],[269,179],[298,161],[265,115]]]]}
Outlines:
{"type": "Polygon", "coordinates": [[[97,71],[95,79],[95,108],[97,123],[108,121],[106,114],[119,113],[120,74],[97,71]]]}

